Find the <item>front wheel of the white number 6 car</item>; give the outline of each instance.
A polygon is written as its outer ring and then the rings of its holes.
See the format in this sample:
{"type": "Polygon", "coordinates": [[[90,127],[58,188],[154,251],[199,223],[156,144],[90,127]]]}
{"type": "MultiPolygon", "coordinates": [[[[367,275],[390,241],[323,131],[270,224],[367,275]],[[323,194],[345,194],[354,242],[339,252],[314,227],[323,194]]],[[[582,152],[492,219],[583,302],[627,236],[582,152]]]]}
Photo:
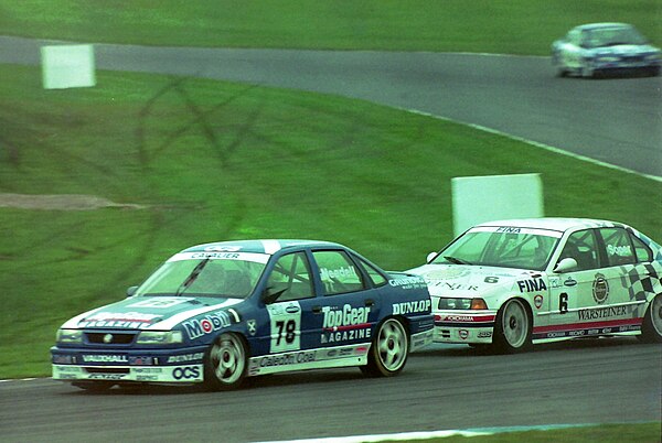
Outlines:
{"type": "Polygon", "coordinates": [[[511,299],[496,314],[494,346],[496,350],[514,354],[531,349],[532,318],[524,302],[511,299]]]}

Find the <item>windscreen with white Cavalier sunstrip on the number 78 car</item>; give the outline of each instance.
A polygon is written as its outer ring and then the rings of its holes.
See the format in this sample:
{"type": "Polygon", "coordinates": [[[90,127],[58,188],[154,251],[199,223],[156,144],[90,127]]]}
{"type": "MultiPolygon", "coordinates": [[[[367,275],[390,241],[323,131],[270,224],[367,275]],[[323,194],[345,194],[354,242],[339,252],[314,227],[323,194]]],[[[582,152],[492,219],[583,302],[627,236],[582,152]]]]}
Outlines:
{"type": "Polygon", "coordinates": [[[255,290],[268,258],[264,253],[179,253],[157,269],[136,296],[245,299],[255,290]]]}

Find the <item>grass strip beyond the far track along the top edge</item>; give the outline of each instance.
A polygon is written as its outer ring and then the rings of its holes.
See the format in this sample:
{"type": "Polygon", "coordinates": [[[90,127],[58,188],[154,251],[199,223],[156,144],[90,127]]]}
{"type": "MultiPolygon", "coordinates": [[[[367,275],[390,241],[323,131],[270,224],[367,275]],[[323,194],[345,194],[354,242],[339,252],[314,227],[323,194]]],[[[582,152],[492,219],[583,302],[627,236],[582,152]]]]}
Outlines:
{"type": "Polygon", "coordinates": [[[662,44],[659,0],[0,0],[0,34],[149,45],[547,55],[597,21],[662,44]]]}

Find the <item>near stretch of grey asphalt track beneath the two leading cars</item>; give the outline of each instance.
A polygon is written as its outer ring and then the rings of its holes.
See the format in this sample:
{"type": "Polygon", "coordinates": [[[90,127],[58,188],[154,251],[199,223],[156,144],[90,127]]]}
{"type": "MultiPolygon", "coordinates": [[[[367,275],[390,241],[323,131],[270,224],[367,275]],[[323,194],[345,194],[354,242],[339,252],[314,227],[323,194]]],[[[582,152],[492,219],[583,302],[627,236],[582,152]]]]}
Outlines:
{"type": "Polygon", "coordinates": [[[434,346],[398,377],[328,369],[233,392],[152,387],[89,393],[50,379],[0,383],[3,442],[276,441],[558,423],[659,421],[661,347],[634,338],[513,355],[434,346]]]}

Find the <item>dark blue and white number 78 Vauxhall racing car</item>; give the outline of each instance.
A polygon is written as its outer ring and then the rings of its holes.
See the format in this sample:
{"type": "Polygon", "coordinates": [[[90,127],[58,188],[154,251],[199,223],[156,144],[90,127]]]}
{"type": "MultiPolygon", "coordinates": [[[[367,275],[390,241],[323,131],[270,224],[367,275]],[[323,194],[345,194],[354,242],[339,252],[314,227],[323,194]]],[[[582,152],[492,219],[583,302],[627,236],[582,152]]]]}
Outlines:
{"type": "Polygon", "coordinates": [[[67,321],[53,378],[83,389],[204,383],[359,366],[402,371],[431,343],[425,281],[334,242],[242,240],[175,253],[122,301],[67,321]]]}

